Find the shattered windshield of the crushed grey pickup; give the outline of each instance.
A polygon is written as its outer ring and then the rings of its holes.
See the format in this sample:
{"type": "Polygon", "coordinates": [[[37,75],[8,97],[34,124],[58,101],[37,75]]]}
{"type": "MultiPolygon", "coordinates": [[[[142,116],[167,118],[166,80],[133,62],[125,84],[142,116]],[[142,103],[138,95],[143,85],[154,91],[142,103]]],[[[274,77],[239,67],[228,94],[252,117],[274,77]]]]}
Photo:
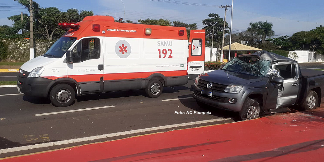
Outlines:
{"type": "Polygon", "coordinates": [[[228,62],[222,70],[265,77],[270,69],[270,60],[259,60],[257,57],[236,57],[228,62]]]}

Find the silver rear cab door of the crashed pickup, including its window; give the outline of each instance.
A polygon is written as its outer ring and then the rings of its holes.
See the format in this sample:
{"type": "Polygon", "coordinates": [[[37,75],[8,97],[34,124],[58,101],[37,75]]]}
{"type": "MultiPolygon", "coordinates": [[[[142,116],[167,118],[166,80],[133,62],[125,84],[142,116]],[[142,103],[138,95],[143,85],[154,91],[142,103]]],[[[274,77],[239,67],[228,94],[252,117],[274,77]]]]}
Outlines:
{"type": "Polygon", "coordinates": [[[280,72],[280,76],[284,78],[284,89],[282,93],[278,94],[277,108],[294,105],[301,83],[296,64],[283,64],[274,67],[280,72]]]}

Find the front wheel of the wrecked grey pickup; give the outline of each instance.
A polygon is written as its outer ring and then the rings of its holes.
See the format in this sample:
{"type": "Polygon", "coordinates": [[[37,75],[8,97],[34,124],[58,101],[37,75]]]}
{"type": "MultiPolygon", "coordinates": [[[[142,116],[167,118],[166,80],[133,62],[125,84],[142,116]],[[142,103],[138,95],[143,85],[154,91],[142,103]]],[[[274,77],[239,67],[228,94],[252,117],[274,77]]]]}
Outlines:
{"type": "Polygon", "coordinates": [[[239,116],[242,120],[255,119],[260,115],[260,106],[257,100],[247,98],[243,104],[242,110],[239,116]]]}

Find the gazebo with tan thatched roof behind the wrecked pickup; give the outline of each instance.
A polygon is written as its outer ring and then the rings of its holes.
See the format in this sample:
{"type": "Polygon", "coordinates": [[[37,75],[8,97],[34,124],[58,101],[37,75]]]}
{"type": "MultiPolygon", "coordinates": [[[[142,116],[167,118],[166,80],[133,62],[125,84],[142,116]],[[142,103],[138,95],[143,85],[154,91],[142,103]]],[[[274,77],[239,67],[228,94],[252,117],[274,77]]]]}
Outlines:
{"type": "MultiPolygon", "coordinates": [[[[243,45],[243,44],[240,44],[240,43],[232,43],[231,44],[231,59],[233,57],[236,57],[237,54],[239,55],[238,51],[247,51],[247,53],[254,53],[256,51],[261,51],[262,49],[260,48],[255,48],[255,47],[251,47],[251,46],[247,46],[247,45],[243,45]]],[[[229,51],[229,45],[225,46],[223,48],[223,58],[228,60],[228,51],[229,51]]]]}

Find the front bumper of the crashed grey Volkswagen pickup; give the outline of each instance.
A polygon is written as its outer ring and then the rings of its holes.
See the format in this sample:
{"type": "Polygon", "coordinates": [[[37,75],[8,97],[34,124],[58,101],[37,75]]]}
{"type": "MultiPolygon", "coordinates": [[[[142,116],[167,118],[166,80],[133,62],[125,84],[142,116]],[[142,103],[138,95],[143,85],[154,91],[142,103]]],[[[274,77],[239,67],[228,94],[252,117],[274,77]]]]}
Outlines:
{"type": "Polygon", "coordinates": [[[239,93],[219,92],[207,88],[198,87],[196,85],[193,86],[192,91],[193,98],[204,104],[236,112],[240,112],[242,109],[245,101],[245,98],[243,98],[243,96],[245,96],[244,93],[245,92],[242,91],[239,93]],[[212,92],[212,96],[202,94],[202,90],[207,93],[212,92]],[[230,103],[229,99],[234,99],[235,102],[230,103]]]}

